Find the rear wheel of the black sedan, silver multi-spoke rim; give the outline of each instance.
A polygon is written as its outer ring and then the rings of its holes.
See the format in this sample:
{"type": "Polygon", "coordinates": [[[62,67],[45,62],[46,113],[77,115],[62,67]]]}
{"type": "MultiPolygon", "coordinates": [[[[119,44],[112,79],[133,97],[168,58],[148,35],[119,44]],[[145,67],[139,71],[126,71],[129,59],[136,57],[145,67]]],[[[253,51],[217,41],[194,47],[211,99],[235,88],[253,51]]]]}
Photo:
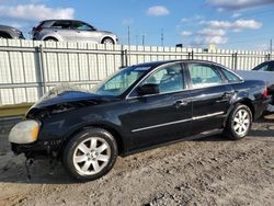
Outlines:
{"type": "Polygon", "coordinates": [[[231,111],[224,134],[231,140],[246,137],[252,125],[252,113],[244,104],[237,104],[231,111]]]}

